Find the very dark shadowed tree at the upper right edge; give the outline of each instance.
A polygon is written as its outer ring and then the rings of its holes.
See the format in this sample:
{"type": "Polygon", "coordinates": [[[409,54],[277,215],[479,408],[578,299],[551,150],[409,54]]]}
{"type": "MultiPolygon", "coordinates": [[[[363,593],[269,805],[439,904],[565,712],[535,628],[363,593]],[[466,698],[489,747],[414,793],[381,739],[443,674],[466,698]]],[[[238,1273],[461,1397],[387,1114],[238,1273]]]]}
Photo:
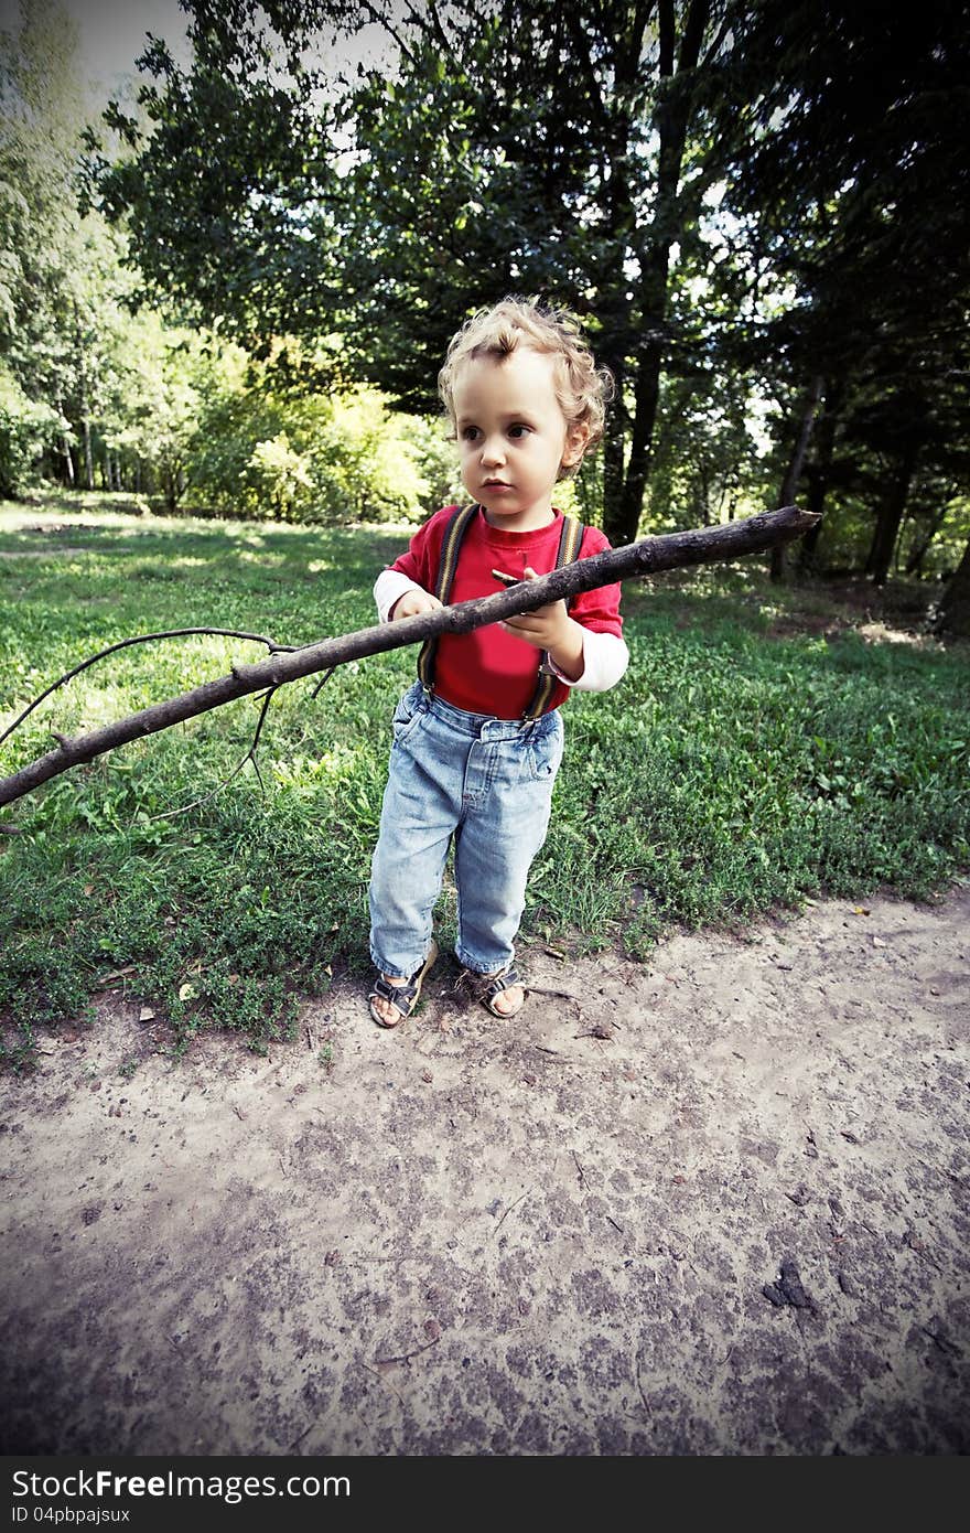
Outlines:
{"type": "MultiPolygon", "coordinates": [[[[760,0],[742,38],[765,81],[754,152],[731,138],[722,149],[752,261],[768,256],[794,293],[762,342],[797,380],[794,400],[808,411],[812,394],[824,397],[826,440],[808,458],[815,509],[837,431],[843,451],[854,442],[880,454],[867,560],[877,583],[921,469],[942,466],[970,438],[961,383],[968,38],[956,0],[916,12],[760,0]]],[[[800,411],[791,411],[789,471],[800,411]]],[[[780,498],[792,494],[789,478],[780,498]]]]}

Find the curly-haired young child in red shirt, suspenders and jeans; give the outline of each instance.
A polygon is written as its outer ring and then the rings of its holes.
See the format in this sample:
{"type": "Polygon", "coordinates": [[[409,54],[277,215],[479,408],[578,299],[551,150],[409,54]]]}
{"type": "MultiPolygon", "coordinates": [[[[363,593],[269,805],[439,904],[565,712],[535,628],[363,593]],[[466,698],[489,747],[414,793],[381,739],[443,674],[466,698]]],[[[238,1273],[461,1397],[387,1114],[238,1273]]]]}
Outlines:
{"type": "MultiPolygon", "coordinates": [[[[455,507],[414,535],[374,596],[382,622],[432,612],[441,560],[449,604],[556,567],[564,530],[552,497],[602,435],[610,377],[572,316],[506,299],[447,348],[438,389],[475,506],[455,546],[455,507]],[[443,550],[444,544],[444,550],[443,550]]],[[[569,529],[567,529],[569,530],[569,529]]],[[[579,558],[610,544],[582,529],[579,558]]],[[[467,635],[443,635],[394,714],[394,745],[371,871],[371,1015],[395,1027],[437,957],[431,912],[455,843],[460,983],[495,1016],[524,989],[513,940],[529,868],[546,840],[562,756],[559,705],[572,687],[605,691],[627,668],[619,586],[605,586],[467,635]],[[547,685],[541,687],[546,681],[547,685]]]]}

